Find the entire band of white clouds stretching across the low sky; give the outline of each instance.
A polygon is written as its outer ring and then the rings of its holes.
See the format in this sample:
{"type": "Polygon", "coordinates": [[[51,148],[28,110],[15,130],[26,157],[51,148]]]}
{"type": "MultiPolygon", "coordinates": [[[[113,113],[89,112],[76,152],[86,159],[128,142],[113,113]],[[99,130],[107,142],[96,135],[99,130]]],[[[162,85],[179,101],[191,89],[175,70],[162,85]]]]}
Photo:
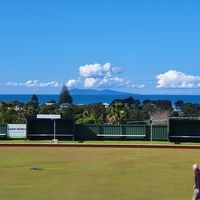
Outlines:
{"type": "MultiPolygon", "coordinates": [[[[193,93],[193,89],[200,89],[200,76],[190,75],[177,70],[169,70],[155,76],[154,80],[130,81],[122,77],[123,70],[120,67],[113,67],[110,63],[86,64],[78,68],[78,75],[66,83],[68,88],[110,88],[128,89],[129,91],[160,92],[160,93],[193,93]],[[145,84],[144,84],[145,83],[145,84]],[[140,90],[142,89],[142,90],[140,90]],[[172,90],[173,89],[173,92],[172,90]],[[185,90],[184,90],[185,89],[185,90]],[[190,90],[188,90],[190,89],[190,90]]],[[[63,82],[28,80],[25,82],[0,83],[1,87],[26,87],[26,88],[59,88],[63,82]]],[[[56,89],[57,90],[57,89],[56,89]]],[[[197,91],[197,90],[195,90],[197,91]]],[[[194,92],[195,93],[195,92],[194,92]]]]}

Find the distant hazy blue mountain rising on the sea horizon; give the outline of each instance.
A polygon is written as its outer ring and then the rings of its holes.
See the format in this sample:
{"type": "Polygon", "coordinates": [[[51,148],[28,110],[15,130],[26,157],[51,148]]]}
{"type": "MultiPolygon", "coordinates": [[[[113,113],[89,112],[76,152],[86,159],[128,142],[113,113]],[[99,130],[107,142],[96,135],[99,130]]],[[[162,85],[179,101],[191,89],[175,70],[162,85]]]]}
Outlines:
{"type": "Polygon", "coordinates": [[[93,89],[71,89],[69,90],[71,95],[130,95],[128,92],[118,92],[114,90],[93,90],[93,89]]]}

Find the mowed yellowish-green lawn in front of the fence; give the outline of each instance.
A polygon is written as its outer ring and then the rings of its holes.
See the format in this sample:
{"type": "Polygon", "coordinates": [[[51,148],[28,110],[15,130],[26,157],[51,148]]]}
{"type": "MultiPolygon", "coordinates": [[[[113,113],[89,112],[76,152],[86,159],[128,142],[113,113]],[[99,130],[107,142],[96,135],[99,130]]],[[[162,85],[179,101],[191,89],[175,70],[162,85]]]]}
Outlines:
{"type": "Polygon", "coordinates": [[[196,162],[200,150],[1,147],[0,199],[187,200],[196,162]]]}

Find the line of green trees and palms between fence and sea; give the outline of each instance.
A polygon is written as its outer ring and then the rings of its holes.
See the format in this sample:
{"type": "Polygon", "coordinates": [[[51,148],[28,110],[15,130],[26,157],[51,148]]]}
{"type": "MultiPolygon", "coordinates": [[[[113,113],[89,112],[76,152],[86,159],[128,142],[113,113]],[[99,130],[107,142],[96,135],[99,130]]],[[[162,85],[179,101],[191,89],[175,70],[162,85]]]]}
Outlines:
{"type": "Polygon", "coordinates": [[[77,124],[126,124],[135,121],[162,121],[169,117],[199,117],[200,104],[177,101],[173,109],[169,100],[144,100],[133,97],[115,99],[105,107],[102,103],[75,105],[66,86],[63,86],[59,101],[39,104],[36,95],[27,103],[19,101],[0,102],[0,124],[26,123],[28,117],[37,114],[61,114],[63,118],[73,117],[77,124]]]}

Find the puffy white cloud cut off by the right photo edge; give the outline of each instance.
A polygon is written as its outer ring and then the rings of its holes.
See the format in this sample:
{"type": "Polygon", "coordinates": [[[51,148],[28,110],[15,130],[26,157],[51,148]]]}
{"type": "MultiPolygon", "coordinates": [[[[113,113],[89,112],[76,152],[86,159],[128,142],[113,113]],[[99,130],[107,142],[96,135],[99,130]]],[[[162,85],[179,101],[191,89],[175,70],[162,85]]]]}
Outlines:
{"type": "Polygon", "coordinates": [[[198,88],[200,87],[200,76],[188,75],[176,70],[169,70],[159,74],[157,88],[198,88]]]}

